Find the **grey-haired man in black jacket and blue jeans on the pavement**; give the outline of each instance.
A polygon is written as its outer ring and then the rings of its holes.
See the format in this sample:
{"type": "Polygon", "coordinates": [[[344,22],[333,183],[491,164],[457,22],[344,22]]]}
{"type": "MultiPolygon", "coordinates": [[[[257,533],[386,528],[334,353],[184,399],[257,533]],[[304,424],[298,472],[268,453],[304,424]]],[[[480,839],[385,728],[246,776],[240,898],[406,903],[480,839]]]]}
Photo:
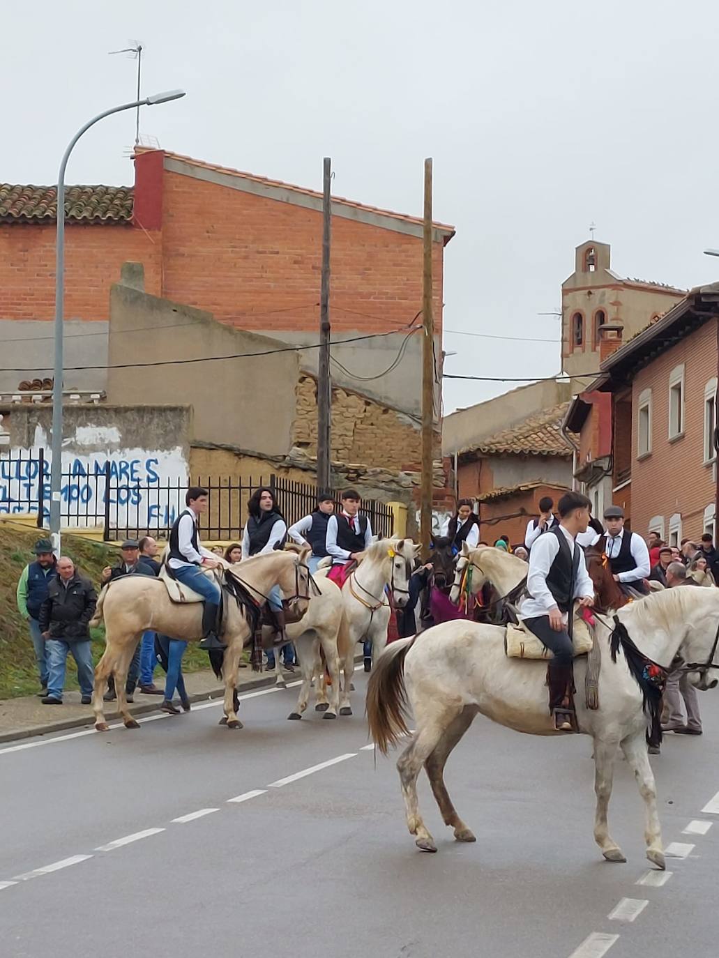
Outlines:
{"type": "Polygon", "coordinates": [[[67,653],[78,666],[82,704],[92,701],[94,670],[90,650],[89,622],[97,595],[92,583],[75,569],[72,559],[58,559],[58,578],[48,585],[47,599],[40,606],[39,623],[45,640],[48,664],[47,696],[43,705],[61,705],[67,653]]]}

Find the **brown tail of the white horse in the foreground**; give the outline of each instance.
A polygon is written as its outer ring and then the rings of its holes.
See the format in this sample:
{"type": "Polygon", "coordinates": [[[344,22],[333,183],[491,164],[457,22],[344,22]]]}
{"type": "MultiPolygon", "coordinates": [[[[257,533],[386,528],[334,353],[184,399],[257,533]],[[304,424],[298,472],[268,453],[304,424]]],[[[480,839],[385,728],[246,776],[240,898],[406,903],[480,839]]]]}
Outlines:
{"type": "Polygon", "coordinates": [[[383,650],[367,683],[367,724],[372,740],[383,753],[409,734],[406,725],[406,653],[416,635],[398,639],[383,650]]]}

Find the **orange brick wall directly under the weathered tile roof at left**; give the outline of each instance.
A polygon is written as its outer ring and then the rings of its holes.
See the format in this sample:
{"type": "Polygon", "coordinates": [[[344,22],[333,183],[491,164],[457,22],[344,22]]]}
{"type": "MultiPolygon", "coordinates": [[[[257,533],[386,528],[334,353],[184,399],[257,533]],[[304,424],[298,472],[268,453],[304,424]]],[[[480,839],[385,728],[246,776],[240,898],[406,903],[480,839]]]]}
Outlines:
{"type": "MultiPolygon", "coordinates": [[[[0,223],[0,319],[55,315],[56,225],[0,223]]],[[[160,235],[129,224],[65,226],[65,317],[107,319],[110,285],[123,262],[145,264],[145,287],[161,286],[160,235]]]]}

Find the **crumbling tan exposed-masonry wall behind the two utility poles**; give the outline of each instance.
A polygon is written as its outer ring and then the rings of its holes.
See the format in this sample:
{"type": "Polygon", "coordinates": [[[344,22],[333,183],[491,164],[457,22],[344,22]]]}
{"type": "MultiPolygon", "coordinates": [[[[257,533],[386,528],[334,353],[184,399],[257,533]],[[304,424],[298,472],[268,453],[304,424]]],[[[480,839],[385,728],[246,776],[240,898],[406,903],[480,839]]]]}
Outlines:
{"type": "MultiPolygon", "coordinates": [[[[292,445],[317,451],[317,384],[313,376],[297,383],[297,414],[292,445]]],[[[373,467],[416,468],[421,458],[418,423],[403,413],[344,389],[332,391],[332,458],[373,467]]]]}

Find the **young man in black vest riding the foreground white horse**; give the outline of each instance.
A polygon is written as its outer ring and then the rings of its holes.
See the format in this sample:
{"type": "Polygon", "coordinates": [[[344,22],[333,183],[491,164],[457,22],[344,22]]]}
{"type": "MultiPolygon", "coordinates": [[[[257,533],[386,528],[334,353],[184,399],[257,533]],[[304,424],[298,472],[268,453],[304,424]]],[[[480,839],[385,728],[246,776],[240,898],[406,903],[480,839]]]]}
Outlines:
{"type": "Polygon", "coordinates": [[[560,524],[540,536],[529,554],[526,588],[520,617],[524,625],[553,653],[548,663],[549,711],[557,731],[570,732],[576,719],[571,705],[573,690],[571,615],[574,600],[594,602],[584,553],[575,538],[587,529],[590,500],[567,492],[559,500],[560,524]]]}

